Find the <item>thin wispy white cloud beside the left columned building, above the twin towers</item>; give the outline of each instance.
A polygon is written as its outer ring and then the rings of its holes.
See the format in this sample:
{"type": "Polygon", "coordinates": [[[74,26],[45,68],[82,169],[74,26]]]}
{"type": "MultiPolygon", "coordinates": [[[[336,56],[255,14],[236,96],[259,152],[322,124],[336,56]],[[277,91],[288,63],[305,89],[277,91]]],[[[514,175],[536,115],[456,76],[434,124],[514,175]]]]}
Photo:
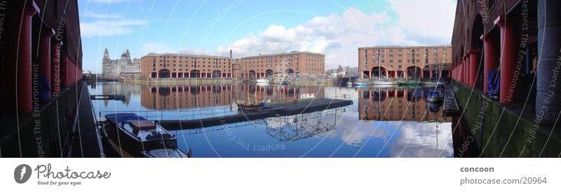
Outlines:
{"type": "Polygon", "coordinates": [[[118,36],[131,34],[133,27],[147,24],[146,20],[95,20],[93,22],[81,22],[80,31],[83,38],[96,36],[118,36]]]}

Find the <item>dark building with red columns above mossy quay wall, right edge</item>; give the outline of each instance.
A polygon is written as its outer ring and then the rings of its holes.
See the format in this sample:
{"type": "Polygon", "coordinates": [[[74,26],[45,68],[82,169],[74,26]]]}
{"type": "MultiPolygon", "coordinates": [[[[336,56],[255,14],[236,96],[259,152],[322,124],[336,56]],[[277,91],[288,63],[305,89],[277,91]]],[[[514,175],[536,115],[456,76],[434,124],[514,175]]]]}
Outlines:
{"type": "Polygon", "coordinates": [[[451,82],[464,112],[453,123],[481,156],[559,156],[559,13],[557,0],[458,1],[451,82]]]}

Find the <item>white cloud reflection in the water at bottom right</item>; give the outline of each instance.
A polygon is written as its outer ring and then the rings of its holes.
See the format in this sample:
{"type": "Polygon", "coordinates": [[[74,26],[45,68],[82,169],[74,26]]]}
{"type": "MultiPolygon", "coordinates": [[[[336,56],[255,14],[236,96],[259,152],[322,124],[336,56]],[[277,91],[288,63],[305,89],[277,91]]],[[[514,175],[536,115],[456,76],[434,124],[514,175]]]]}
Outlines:
{"type": "Polygon", "coordinates": [[[454,154],[452,147],[452,123],[419,123],[402,121],[398,127],[400,138],[391,142],[392,157],[450,157],[454,154]],[[416,130],[417,129],[417,130],[416,130]],[[438,130],[438,135],[437,135],[438,130]],[[438,147],[437,147],[438,145],[438,147]],[[438,156],[440,154],[440,156],[438,156]]]}

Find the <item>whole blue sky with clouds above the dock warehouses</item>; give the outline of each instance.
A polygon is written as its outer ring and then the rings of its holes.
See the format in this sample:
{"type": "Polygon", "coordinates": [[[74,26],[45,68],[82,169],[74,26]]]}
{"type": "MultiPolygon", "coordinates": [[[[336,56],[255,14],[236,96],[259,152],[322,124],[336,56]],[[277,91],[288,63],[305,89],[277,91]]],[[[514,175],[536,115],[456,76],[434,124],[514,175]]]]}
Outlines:
{"type": "Polygon", "coordinates": [[[321,52],[326,68],[357,66],[357,48],[449,45],[455,0],[79,0],[83,68],[111,59],[181,52],[234,57],[321,52]]]}

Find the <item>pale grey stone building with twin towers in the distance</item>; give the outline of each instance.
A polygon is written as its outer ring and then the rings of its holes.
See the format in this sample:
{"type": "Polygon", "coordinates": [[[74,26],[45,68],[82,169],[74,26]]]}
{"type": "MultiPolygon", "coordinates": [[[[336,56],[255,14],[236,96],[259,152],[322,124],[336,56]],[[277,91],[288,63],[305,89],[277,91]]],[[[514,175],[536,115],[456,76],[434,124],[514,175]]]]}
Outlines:
{"type": "Polygon", "coordinates": [[[109,51],[105,48],[102,67],[104,77],[140,77],[140,62],[130,59],[128,49],[121,54],[121,58],[111,60],[109,51]]]}

